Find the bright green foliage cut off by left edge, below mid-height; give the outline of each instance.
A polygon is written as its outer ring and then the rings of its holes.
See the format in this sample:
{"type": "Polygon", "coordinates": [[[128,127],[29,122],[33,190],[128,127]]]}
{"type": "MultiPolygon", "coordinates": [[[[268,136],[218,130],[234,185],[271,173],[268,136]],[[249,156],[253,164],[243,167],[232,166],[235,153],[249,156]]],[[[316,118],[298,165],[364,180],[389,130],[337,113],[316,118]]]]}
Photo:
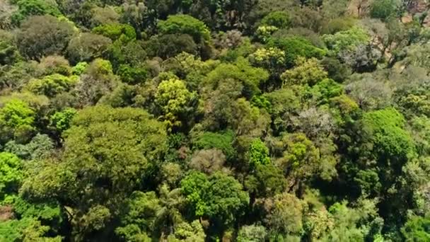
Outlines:
{"type": "Polygon", "coordinates": [[[6,152],[0,153],[0,201],[5,195],[18,192],[23,180],[22,165],[18,156],[6,152]]]}

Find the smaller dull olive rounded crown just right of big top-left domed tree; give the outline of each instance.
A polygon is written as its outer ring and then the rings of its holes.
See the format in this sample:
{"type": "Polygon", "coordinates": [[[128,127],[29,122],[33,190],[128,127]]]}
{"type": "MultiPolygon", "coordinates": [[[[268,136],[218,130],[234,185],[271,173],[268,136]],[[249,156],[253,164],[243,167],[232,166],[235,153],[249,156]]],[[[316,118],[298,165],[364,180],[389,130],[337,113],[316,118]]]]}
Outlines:
{"type": "Polygon", "coordinates": [[[112,40],[103,35],[81,33],[69,41],[67,57],[73,64],[91,62],[93,59],[102,57],[111,44],[112,40]]]}

